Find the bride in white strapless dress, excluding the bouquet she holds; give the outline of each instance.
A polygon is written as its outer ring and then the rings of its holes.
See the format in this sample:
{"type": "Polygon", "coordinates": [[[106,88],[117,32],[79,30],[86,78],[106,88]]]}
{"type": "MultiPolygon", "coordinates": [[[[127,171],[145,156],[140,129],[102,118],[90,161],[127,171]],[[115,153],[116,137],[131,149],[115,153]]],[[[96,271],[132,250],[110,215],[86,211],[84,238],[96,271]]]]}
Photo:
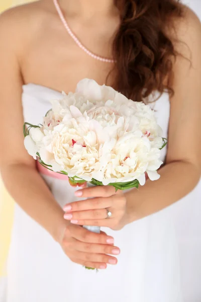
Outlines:
{"type": "Polygon", "coordinates": [[[182,301],[168,206],[201,171],[197,17],[176,0],[39,0],[0,16],[0,51],[0,167],[16,201],[1,302],[182,301]],[[158,181],[115,195],[37,168],[24,120],[40,123],[49,100],[83,78],[155,110],[168,137],[158,181]],[[104,228],[94,234],[83,224],[104,228]]]}

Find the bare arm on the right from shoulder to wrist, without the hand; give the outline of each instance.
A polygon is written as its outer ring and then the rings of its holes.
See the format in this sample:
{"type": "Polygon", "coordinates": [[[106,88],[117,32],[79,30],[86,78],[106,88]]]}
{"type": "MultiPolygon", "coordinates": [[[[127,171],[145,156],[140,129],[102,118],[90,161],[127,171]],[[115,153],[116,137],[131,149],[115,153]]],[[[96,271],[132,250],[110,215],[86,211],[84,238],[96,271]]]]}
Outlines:
{"type": "Polygon", "coordinates": [[[139,191],[127,193],[131,220],[159,211],[189,193],[201,172],[201,24],[194,13],[178,25],[178,52],[174,64],[174,96],[170,100],[170,121],[166,165],[161,178],[148,181],[139,191]],[[189,60],[191,62],[189,62],[189,60]],[[133,202],[133,199],[135,201],[133,202]]]}

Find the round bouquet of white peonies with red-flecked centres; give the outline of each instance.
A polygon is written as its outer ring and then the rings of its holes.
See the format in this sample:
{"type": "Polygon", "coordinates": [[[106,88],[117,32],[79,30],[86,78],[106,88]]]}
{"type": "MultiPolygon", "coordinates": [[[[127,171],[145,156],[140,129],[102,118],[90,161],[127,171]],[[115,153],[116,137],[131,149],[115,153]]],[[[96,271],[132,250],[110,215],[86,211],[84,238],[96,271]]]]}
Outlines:
{"type": "Polygon", "coordinates": [[[25,147],[41,165],[68,175],[73,184],[116,190],[143,186],[146,174],[159,179],[160,150],[167,141],[148,105],[89,79],[80,81],[75,93],[62,92],[50,102],[42,124],[24,124],[25,147]]]}

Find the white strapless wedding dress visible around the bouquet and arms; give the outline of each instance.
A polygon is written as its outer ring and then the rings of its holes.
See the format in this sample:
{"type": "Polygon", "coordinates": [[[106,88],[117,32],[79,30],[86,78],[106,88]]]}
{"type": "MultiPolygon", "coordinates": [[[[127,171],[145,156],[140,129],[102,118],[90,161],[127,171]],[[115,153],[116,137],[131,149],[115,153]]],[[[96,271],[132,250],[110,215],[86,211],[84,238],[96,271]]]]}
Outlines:
{"type": "MultiPolygon", "coordinates": [[[[23,86],[25,121],[38,124],[59,92],[39,85],[23,86]]],[[[169,97],[154,109],[167,137],[169,97]]],[[[162,159],[166,150],[163,150],[162,159]]],[[[67,181],[44,176],[63,206],[75,200],[67,181]]],[[[32,192],[30,192],[31,194],[32,192]]],[[[148,202],[148,200],[147,200],[148,202]]],[[[46,215],[46,213],[44,213],[46,215]]],[[[85,270],[72,263],[51,236],[18,205],[8,259],[8,284],[3,302],[182,302],[180,268],[170,208],[133,222],[121,231],[103,228],[121,248],[116,266],[85,270]]],[[[2,302],[2,301],[1,301],[2,302]]]]}

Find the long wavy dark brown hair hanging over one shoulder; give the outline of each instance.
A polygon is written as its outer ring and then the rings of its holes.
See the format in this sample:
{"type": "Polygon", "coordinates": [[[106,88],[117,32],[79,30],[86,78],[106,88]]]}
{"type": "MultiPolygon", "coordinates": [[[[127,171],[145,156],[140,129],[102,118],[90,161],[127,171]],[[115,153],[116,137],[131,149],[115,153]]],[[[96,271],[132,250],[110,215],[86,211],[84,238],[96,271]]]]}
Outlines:
{"type": "Polygon", "coordinates": [[[113,43],[115,89],[134,101],[155,90],[173,94],[169,79],[177,52],[167,28],[182,17],[179,0],[116,0],[116,5],[121,24],[113,43]]]}

